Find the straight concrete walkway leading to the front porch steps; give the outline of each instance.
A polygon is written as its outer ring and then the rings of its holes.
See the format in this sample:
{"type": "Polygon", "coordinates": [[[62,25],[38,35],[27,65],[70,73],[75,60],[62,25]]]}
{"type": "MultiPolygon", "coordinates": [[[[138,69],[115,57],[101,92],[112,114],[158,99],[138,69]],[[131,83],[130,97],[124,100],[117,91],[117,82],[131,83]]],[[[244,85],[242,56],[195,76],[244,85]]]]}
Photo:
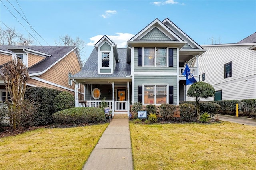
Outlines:
{"type": "Polygon", "coordinates": [[[83,170],[133,170],[128,118],[111,120],[83,170]]]}

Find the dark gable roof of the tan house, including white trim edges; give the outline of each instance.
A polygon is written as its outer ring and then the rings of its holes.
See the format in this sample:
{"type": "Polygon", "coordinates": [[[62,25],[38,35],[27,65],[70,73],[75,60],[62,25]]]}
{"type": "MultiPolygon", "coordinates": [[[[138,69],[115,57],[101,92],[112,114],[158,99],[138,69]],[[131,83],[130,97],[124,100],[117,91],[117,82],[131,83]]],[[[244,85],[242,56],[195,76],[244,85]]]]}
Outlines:
{"type": "Polygon", "coordinates": [[[68,55],[74,50],[76,55],[78,56],[78,61],[82,69],[82,61],[80,59],[76,46],[6,46],[6,45],[3,45],[3,46],[0,46],[0,49],[6,52],[12,52],[12,50],[22,50],[22,49],[25,49],[27,51],[33,50],[34,53],[38,53],[38,55],[42,55],[42,54],[46,55],[45,59],[28,68],[30,76],[40,75],[45,73],[48,69],[53,67],[56,63],[58,63],[61,59],[66,57],[66,55],[68,55]]]}

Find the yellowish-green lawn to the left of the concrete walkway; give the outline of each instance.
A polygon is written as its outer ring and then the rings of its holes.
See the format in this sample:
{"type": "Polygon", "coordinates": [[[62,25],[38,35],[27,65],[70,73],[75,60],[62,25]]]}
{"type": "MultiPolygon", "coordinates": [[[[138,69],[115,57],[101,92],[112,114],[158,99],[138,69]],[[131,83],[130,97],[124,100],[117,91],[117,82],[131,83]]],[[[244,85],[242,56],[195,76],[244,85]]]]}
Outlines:
{"type": "Polygon", "coordinates": [[[1,170],[81,170],[108,123],[41,128],[0,139],[1,170]]]}

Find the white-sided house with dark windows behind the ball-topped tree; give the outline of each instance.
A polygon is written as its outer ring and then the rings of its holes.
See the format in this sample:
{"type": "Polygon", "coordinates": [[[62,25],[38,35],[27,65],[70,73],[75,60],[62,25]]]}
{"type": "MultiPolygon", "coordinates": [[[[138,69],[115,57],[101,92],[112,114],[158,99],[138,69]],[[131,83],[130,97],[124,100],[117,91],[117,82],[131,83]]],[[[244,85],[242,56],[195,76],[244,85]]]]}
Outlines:
{"type": "Polygon", "coordinates": [[[256,32],[238,43],[201,46],[207,51],[199,57],[200,81],[215,89],[202,100],[256,99],[256,32]]]}

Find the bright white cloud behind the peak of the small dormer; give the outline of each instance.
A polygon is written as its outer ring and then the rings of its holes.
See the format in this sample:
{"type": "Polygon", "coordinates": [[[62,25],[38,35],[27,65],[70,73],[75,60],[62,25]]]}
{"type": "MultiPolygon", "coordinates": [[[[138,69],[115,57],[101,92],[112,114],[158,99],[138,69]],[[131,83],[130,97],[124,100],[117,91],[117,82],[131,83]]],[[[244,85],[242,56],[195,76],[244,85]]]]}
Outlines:
{"type": "MultiPolygon", "coordinates": [[[[112,42],[114,42],[117,45],[118,48],[125,48],[127,41],[130,40],[134,36],[134,34],[118,32],[114,36],[113,35],[107,35],[107,36],[108,36],[108,38],[110,38],[110,40],[112,40],[112,42]]],[[[103,37],[103,35],[98,35],[98,36],[94,36],[94,37],[90,38],[91,42],[87,43],[87,45],[93,46],[102,37],[103,37]]]]}

